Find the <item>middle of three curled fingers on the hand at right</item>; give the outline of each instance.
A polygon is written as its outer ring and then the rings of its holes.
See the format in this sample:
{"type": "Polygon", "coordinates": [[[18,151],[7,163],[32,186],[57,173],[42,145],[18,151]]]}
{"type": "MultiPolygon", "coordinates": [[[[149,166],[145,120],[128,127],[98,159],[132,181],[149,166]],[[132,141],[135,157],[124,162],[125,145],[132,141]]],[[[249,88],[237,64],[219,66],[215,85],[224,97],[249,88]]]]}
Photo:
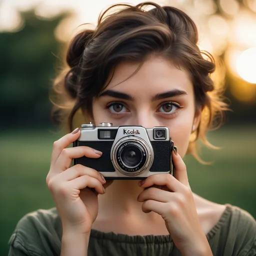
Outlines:
{"type": "Polygon", "coordinates": [[[137,201],[143,202],[145,200],[155,200],[159,202],[171,201],[172,192],[161,190],[159,188],[150,187],[144,189],[137,197],[137,201]]]}

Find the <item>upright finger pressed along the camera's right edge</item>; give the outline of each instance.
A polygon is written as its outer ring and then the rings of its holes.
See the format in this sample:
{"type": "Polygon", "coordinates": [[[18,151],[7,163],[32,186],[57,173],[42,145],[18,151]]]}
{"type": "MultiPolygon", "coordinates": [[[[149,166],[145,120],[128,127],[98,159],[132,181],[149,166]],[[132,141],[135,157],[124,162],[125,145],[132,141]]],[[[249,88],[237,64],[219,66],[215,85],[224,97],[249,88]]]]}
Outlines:
{"type": "Polygon", "coordinates": [[[186,165],[183,162],[181,156],[177,152],[175,152],[175,150],[172,150],[172,159],[175,165],[175,178],[182,184],[186,186],[189,185],[186,172],[186,165]]]}

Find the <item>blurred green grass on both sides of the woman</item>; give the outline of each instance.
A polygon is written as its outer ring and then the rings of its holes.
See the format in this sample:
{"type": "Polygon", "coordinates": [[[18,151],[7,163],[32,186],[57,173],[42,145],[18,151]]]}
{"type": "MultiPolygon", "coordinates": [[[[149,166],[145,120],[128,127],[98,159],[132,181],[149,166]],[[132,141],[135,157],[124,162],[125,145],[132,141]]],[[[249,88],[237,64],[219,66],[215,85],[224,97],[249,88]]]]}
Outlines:
{"type": "MultiPolygon", "coordinates": [[[[54,206],[45,184],[52,143],[60,134],[12,130],[0,134],[0,255],[7,255],[8,239],[25,213],[54,206]]],[[[202,165],[184,158],[192,190],[218,202],[231,203],[256,217],[256,127],[221,128],[209,133],[220,150],[203,151],[202,165]]]]}

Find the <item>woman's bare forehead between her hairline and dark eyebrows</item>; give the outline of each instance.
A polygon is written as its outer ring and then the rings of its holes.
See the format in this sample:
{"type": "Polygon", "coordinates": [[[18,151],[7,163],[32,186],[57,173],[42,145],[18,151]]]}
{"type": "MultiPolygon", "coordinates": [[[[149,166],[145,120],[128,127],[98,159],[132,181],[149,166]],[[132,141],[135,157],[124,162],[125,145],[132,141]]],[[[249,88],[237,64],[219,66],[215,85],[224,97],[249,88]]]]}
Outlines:
{"type": "Polygon", "coordinates": [[[188,73],[171,61],[161,57],[150,58],[132,75],[138,67],[139,63],[129,61],[118,64],[106,89],[113,88],[134,96],[140,91],[150,95],[171,89],[184,90],[188,94],[193,92],[188,73]]]}

